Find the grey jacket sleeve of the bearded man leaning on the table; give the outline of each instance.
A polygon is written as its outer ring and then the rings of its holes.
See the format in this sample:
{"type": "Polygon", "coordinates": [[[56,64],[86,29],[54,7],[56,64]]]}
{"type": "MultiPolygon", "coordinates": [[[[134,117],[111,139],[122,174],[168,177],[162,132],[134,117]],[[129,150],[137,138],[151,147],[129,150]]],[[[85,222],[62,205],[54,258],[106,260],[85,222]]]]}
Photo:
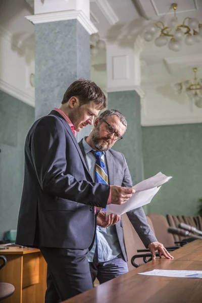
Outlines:
{"type": "MultiPolygon", "coordinates": [[[[128,165],[126,163],[126,159],[124,156],[123,159],[124,159],[124,178],[123,178],[122,186],[131,187],[133,185],[132,185],[130,171],[128,169],[128,165]]],[[[157,241],[154,232],[151,230],[149,224],[147,223],[146,216],[142,207],[127,212],[127,216],[145,247],[147,247],[149,243],[157,241]]]]}

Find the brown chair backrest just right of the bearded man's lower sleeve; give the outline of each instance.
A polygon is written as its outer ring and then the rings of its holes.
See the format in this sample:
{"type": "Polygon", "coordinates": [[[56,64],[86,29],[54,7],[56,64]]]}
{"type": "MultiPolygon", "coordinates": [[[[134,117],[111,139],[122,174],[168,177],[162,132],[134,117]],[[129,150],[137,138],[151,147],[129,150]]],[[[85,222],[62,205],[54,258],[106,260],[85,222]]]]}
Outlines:
{"type": "Polygon", "coordinates": [[[169,225],[166,218],[159,214],[149,214],[147,217],[149,217],[153,223],[158,241],[163,243],[164,246],[175,246],[172,234],[168,233],[169,225]]]}

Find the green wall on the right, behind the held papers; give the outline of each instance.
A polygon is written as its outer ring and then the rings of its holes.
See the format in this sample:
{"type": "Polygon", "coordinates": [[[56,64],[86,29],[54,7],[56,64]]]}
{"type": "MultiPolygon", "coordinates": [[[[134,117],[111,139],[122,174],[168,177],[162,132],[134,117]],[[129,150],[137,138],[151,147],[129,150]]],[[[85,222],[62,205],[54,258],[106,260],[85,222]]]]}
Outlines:
{"type": "Polygon", "coordinates": [[[144,177],[173,176],[163,185],[148,213],[195,215],[202,197],[202,124],[142,127],[144,177]]]}

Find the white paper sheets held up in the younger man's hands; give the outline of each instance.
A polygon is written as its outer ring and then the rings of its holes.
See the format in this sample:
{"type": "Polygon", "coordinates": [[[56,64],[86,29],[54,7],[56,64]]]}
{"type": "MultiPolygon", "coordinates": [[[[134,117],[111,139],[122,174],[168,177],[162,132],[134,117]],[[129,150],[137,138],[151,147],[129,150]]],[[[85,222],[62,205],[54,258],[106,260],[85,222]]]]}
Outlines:
{"type": "Polygon", "coordinates": [[[157,175],[136,184],[133,186],[136,192],[126,203],[122,205],[110,204],[107,206],[106,217],[110,214],[123,215],[126,212],[150,203],[151,199],[161,188],[161,185],[171,178],[172,177],[167,177],[160,172],[157,175]]]}

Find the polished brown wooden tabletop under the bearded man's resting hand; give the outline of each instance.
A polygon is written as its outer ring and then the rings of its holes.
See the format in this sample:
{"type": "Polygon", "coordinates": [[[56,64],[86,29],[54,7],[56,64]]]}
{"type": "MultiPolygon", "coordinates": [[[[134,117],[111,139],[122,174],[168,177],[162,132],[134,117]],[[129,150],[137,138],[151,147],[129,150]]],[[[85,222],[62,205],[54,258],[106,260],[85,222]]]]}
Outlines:
{"type": "Polygon", "coordinates": [[[173,260],[153,260],[65,303],[201,303],[202,279],[138,275],[154,269],[201,270],[202,240],[175,250],[173,260]]]}

